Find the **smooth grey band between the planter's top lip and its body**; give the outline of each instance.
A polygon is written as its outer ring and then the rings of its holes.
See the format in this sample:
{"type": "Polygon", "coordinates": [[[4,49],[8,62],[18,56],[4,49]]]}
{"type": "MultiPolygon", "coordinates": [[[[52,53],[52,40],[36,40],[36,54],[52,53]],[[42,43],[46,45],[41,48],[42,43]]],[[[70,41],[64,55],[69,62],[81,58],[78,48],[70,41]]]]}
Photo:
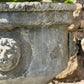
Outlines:
{"type": "Polygon", "coordinates": [[[15,27],[70,25],[72,23],[72,12],[48,11],[48,12],[9,12],[0,13],[0,29],[14,29],[15,27]]]}

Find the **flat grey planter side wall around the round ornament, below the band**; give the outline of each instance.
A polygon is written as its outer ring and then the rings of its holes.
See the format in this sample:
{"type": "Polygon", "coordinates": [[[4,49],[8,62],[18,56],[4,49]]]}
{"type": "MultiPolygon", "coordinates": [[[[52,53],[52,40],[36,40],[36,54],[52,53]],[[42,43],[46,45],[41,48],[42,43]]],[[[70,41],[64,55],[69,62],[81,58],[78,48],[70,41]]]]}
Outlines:
{"type": "MultiPolygon", "coordinates": [[[[9,32],[1,31],[1,38],[15,39],[21,46],[22,52],[20,64],[14,70],[5,73],[7,78],[38,77],[40,75],[46,78],[49,74],[54,77],[61,72],[68,61],[67,34],[66,25],[62,25],[62,28],[57,25],[57,28],[52,26],[47,28],[21,28],[9,32]]],[[[4,72],[1,72],[1,74],[4,77],[4,72]]],[[[51,77],[46,78],[46,80],[51,77]]]]}

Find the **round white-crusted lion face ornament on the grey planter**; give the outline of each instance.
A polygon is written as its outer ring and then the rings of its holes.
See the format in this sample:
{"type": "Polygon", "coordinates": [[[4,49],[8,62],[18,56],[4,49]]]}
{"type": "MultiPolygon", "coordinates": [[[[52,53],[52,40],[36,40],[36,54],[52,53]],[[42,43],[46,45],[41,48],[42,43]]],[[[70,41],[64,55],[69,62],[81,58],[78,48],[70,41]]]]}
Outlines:
{"type": "Polygon", "coordinates": [[[0,70],[10,71],[14,69],[20,60],[20,49],[15,40],[9,38],[0,39],[0,70]]]}

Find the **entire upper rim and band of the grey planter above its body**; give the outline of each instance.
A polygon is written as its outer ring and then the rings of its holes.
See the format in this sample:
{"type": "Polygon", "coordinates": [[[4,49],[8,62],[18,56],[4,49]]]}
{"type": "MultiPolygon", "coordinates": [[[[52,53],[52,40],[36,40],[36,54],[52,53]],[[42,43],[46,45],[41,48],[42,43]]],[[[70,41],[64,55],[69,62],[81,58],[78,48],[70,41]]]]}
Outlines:
{"type": "Polygon", "coordinates": [[[62,3],[0,3],[0,29],[27,26],[50,26],[72,23],[74,4],[62,3]],[[6,12],[8,11],[8,12],[6,12]]]}

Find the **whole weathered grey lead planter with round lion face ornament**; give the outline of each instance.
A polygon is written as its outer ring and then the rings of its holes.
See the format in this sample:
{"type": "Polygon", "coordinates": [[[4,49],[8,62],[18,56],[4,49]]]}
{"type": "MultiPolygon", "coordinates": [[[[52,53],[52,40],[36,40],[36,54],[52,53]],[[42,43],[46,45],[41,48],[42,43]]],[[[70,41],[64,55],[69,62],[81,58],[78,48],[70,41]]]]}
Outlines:
{"type": "Polygon", "coordinates": [[[64,70],[74,10],[64,3],[0,3],[0,84],[46,84],[64,70]]]}

